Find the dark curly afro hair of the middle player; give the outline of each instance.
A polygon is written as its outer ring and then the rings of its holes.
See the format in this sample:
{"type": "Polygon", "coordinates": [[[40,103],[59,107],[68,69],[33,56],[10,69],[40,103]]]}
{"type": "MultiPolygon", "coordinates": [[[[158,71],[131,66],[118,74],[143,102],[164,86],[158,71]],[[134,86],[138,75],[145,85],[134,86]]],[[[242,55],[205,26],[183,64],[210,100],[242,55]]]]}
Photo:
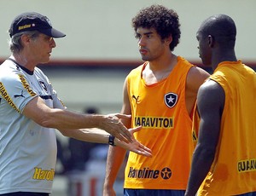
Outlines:
{"type": "Polygon", "coordinates": [[[179,43],[180,24],[177,13],[173,9],[167,9],[162,5],[151,5],[141,9],[139,13],[131,20],[131,25],[135,32],[139,27],[154,28],[162,39],[172,35],[170,49],[173,49],[179,43]]]}

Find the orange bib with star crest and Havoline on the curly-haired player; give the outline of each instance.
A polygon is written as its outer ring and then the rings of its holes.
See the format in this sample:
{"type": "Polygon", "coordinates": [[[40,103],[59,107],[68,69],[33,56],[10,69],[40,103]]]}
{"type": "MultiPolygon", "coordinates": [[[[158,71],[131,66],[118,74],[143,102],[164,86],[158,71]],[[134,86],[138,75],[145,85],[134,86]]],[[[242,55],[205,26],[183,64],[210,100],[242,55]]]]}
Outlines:
{"type": "Polygon", "coordinates": [[[127,90],[132,127],[143,125],[135,137],[153,151],[152,158],[130,153],[125,188],[185,189],[189,178],[192,120],[186,108],[185,86],[191,64],[182,57],[168,78],[147,85],[142,72],[148,62],[132,70],[127,90]]]}

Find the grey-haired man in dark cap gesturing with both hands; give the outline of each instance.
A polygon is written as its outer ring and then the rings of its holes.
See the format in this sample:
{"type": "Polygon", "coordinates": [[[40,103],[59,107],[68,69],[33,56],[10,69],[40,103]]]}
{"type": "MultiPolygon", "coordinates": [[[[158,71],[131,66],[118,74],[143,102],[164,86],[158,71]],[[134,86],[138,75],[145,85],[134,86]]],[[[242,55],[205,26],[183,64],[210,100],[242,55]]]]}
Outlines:
{"type": "Polygon", "coordinates": [[[56,46],[54,38],[66,36],[55,30],[46,16],[34,12],[18,15],[9,35],[12,55],[0,66],[0,195],[51,193],[55,129],[81,141],[109,143],[151,156],[131,134],[141,128],[130,132],[119,121],[130,116],[79,114],[62,105],[49,79],[37,67],[49,62],[56,46]]]}

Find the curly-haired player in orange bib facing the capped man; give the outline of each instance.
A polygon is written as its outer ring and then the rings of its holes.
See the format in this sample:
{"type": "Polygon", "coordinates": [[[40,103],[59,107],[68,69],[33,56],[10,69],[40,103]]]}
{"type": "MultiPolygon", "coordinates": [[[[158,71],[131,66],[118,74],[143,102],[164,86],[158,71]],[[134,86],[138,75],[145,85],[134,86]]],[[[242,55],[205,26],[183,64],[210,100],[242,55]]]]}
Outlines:
{"type": "MultiPolygon", "coordinates": [[[[129,154],[124,195],[183,195],[194,151],[191,112],[208,73],[172,53],[181,34],[174,10],[152,5],[132,19],[132,26],[144,63],[125,79],[121,112],[132,116],[123,121],[126,127],[143,126],[135,137],[153,157],[129,154]]],[[[124,158],[125,150],[109,148],[104,196],[115,195],[124,158]]]]}

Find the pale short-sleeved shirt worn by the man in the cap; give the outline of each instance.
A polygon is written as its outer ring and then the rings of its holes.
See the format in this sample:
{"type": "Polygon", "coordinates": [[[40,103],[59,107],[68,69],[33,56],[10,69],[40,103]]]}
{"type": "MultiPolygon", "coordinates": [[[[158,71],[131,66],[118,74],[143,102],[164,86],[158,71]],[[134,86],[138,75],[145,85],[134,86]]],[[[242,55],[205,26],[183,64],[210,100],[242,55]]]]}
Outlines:
{"type": "Polygon", "coordinates": [[[0,66],[0,193],[51,193],[56,162],[55,129],[22,115],[40,96],[48,107],[65,108],[38,67],[34,72],[6,60],[0,66]]]}

